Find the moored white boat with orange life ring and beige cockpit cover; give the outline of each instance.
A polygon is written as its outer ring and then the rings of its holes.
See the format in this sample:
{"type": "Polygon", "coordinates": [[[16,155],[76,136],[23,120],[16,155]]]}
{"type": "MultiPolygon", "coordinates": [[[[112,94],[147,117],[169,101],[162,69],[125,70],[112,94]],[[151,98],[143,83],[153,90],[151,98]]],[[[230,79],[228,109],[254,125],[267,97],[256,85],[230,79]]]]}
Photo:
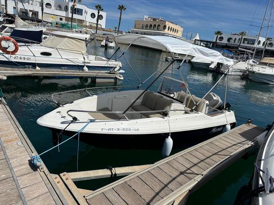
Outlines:
{"type": "Polygon", "coordinates": [[[3,40],[0,63],[47,69],[65,67],[77,70],[88,68],[118,71],[121,68],[119,61],[88,55],[86,43],[88,39],[88,34],[53,31],[51,36],[40,45],[14,44],[14,42],[3,40]],[[18,51],[14,52],[16,49],[18,51]]]}

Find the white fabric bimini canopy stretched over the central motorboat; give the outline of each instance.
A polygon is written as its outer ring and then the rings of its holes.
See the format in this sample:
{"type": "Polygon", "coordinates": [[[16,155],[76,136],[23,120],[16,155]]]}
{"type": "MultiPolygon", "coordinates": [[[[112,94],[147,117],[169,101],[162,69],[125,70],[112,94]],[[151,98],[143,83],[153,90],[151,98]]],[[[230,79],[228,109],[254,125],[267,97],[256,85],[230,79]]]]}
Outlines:
{"type": "Polygon", "coordinates": [[[208,49],[202,46],[187,43],[183,40],[158,35],[141,35],[141,34],[122,34],[114,37],[119,44],[130,44],[133,40],[133,45],[153,48],[172,53],[190,55],[199,57],[204,60],[220,62],[227,65],[233,65],[233,61],[222,56],[217,51],[208,49]]]}

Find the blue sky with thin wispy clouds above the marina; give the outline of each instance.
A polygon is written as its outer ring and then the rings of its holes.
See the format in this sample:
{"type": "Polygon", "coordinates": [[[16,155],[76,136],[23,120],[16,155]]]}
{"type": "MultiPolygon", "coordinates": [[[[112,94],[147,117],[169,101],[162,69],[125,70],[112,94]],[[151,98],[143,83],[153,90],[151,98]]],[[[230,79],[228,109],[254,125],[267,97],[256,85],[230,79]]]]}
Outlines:
{"type": "MultiPolygon", "coordinates": [[[[268,0],[82,0],[81,4],[94,9],[100,4],[107,13],[106,28],[118,26],[120,11],[118,5],[125,5],[122,13],[121,29],[130,30],[134,20],[144,15],[162,17],[183,27],[183,36],[189,39],[199,33],[200,39],[214,40],[214,31],[238,33],[248,31],[256,35],[267,7],[268,0]],[[253,26],[251,26],[253,25],[253,26]]],[[[269,4],[264,26],[267,26],[272,2],[269,4]]],[[[274,16],[274,15],[273,15],[274,16]]],[[[271,17],[271,20],[273,19],[271,17]]],[[[271,25],[271,21],[270,21],[271,25]]],[[[266,28],[261,36],[264,36],[266,28]]],[[[274,37],[274,29],[269,27],[269,35],[274,37]]]]}

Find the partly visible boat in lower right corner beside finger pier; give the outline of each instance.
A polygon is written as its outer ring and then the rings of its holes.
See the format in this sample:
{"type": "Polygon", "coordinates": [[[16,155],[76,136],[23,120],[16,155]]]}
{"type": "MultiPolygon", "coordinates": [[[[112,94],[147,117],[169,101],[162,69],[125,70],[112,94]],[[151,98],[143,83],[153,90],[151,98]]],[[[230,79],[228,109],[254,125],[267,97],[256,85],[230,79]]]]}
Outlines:
{"type": "Polygon", "coordinates": [[[258,205],[274,204],[274,129],[263,133],[262,137],[264,136],[257,155],[252,184],[252,204],[258,205]]]}

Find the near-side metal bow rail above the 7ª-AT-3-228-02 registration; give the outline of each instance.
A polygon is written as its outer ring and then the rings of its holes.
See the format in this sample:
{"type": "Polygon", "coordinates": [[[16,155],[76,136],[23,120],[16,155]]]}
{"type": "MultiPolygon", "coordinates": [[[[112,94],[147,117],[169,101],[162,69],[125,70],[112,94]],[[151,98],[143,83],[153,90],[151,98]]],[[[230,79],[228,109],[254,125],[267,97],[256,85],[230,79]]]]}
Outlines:
{"type": "Polygon", "coordinates": [[[71,110],[67,110],[66,114],[70,117],[72,117],[73,119],[77,118],[75,116],[73,116],[72,114],[70,114],[70,112],[86,112],[86,113],[100,113],[100,114],[123,114],[125,116],[125,118],[129,121],[129,118],[126,116],[126,114],[142,114],[142,113],[166,113],[166,116],[161,114],[163,117],[169,117],[168,113],[170,111],[188,111],[190,114],[195,114],[195,113],[199,113],[195,110],[193,110],[192,112],[190,112],[190,110],[185,110],[185,109],[172,109],[172,110],[149,110],[149,111],[127,111],[126,113],[124,113],[124,111],[98,111],[98,110],[75,110],[75,109],[71,109],[71,110]]]}

